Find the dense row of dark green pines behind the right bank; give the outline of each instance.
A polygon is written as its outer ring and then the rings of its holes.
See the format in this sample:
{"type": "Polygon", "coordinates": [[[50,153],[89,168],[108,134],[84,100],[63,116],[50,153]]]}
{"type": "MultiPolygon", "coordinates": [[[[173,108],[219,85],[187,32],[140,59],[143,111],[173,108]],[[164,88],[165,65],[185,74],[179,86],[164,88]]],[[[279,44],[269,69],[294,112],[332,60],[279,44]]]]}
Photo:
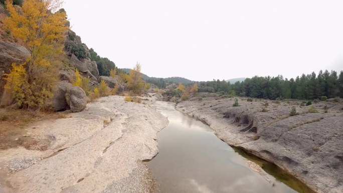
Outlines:
{"type": "MultiPolygon", "coordinates": [[[[199,92],[237,93],[239,96],[272,100],[277,98],[313,100],[320,96],[343,98],[343,71],[339,76],[335,71],[325,70],[319,71],[318,75],[313,72],[308,75],[302,74],[295,79],[284,79],[281,75],[254,76],[234,84],[224,80],[213,80],[198,82],[198,87],[199,92]]],[[[232,95],[235,96],[235,94],[232,95]]]]}

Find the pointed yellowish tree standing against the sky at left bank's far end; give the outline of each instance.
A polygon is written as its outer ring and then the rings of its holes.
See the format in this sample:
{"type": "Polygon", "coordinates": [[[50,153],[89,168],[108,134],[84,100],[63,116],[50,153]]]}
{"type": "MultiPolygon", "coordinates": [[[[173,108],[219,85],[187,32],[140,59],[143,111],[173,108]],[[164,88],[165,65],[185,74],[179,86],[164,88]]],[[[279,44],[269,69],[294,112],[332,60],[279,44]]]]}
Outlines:
{"type": "Polygon", "coordinates": [[[136,66],[133,69],[130,69],[130,73],[127,77],[127,86],[134,94],[141,92],[144,87],[140,69],[140,64],[137,62],[136,66]]]}

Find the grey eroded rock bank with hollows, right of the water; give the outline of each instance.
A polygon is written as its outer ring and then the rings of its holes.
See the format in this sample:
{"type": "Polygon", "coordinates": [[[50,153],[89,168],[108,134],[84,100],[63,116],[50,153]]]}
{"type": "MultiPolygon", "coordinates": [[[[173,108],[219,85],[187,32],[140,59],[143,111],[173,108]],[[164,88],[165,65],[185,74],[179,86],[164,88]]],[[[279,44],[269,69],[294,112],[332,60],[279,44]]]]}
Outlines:
{"type": "Polygon", "coordinates": [[[275,163],[320,193],[343,192],[343,103],[324,101],[299,106],[270,100],[206,97],[177,105],[198,118],[230,145],[275,163]],[[291,106],[299,115],[289,116],[291,106]],[[308,113],[315,107],[318,112],[308,113]]]}

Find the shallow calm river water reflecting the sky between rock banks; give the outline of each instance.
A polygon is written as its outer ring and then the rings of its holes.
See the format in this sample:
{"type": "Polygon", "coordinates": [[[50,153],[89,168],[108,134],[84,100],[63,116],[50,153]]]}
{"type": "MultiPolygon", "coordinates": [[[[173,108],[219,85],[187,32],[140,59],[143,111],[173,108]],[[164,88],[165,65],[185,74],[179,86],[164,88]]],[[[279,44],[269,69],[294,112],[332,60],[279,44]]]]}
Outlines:
{"type": "Polygon", "coordinates": [[[273,164],[233,149],[175,103],[154,106],[169,120],[158,133],[159,153],[147,162],[161,192],[310,192],[273,164]]]}

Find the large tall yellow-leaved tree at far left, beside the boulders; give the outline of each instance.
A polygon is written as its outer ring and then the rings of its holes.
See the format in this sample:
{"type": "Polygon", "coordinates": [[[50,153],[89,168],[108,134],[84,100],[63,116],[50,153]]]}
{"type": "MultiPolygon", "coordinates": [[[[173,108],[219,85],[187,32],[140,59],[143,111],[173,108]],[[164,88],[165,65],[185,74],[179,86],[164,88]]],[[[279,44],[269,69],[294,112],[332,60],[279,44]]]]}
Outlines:
{"type": "Polygon", "coordinates": [[[12,65],[5,88],[23,108],[45,108],[58,80],[57,59],[69,28],[66,13],[56,12],[61,0],[25,0],[21,9],[12,3],[6,1],[10,16],[3,23],[14,38],[22,40],[31,56],[12,65]]]}

